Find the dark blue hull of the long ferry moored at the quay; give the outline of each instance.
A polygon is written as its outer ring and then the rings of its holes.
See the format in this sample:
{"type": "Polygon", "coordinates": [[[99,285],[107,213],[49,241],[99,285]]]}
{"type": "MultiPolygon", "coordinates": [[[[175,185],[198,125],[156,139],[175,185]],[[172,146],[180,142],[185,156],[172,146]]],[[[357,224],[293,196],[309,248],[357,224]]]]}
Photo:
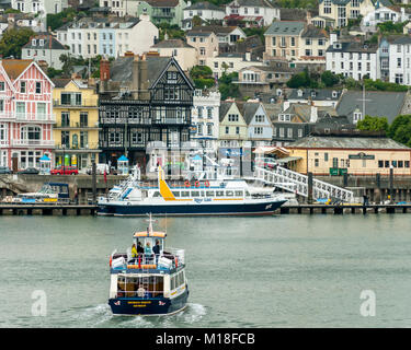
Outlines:
{"type": "Polygon", "coordinates": [[[221,203],[221,205],[186,205],[186,206],[118,206],[99,205],[98,213],[102,215],[246,215],[272,214],[286,200],[259,203],[221,203]]]}

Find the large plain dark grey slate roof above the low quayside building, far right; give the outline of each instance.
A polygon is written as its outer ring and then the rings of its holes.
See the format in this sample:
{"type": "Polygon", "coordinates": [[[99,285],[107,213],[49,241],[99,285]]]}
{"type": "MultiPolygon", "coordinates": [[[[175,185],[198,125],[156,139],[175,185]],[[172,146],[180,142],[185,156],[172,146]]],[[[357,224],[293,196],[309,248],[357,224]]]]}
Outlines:
{"type": "MultiPolygon", "coordinates": [[[[373,117],[387,117],[391,124],[401,113],[406,101],[406,92],[366,91],[365,114],[373,117]]],[[[363,110],[363,92],[346,91],[336,106],[339,115],[345,115],[353,120],[354,110],[363,110]]]]}

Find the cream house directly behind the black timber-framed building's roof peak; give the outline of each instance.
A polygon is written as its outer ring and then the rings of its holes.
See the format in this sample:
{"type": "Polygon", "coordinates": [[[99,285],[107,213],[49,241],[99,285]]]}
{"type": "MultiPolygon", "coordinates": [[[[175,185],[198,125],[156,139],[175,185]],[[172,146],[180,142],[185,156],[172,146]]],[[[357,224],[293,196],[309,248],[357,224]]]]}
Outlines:
{"type": "Polygon", "coordinates": [[[160,56],[173,56],[184,71],[190,71],[197,65],[197,50],[182,39],[165,39],[150,47],[160,56]]]}

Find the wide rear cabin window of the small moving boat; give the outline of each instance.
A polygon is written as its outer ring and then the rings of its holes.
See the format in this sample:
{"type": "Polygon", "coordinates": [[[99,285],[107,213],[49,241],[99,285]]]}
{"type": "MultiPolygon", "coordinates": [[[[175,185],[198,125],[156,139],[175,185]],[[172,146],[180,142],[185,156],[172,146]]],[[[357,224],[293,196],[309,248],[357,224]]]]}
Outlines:
{"type": "Polygon", "coordinates": [[[117,298],[160,298],[163,296],[163,276],[118,276],[117,298]]]}

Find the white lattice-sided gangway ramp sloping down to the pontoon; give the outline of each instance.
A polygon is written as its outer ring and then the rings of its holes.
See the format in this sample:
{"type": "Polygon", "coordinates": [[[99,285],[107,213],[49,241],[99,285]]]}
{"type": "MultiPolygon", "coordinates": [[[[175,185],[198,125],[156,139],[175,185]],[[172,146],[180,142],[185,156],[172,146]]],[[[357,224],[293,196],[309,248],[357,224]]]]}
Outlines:
{"type": "MultiPolygon", "coordinates": [[[[256,166],[254,170],[254,179],[283,188],[302,197],[308,197],[309,195],[308,176],[282,166],[275,166],[272,170],[256,166]]],[[[351,203],[354,202],[354,192],[312,178],[312,198],[332,198],[351,203]]]]}

